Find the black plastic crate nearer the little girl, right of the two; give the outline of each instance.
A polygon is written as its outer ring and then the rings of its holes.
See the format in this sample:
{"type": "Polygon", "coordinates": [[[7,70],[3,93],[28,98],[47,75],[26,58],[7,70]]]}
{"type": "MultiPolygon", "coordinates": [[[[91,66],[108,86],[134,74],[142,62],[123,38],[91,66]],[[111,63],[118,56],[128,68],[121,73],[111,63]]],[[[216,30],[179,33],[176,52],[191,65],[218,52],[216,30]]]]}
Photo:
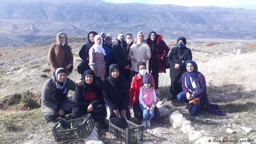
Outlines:
{"type": "Polygon", "coordinates": [[[109,133],[128,144],[135,144],[143,140],[143,125],[128,121],[125,117],[109,119],[109,133]]]}

